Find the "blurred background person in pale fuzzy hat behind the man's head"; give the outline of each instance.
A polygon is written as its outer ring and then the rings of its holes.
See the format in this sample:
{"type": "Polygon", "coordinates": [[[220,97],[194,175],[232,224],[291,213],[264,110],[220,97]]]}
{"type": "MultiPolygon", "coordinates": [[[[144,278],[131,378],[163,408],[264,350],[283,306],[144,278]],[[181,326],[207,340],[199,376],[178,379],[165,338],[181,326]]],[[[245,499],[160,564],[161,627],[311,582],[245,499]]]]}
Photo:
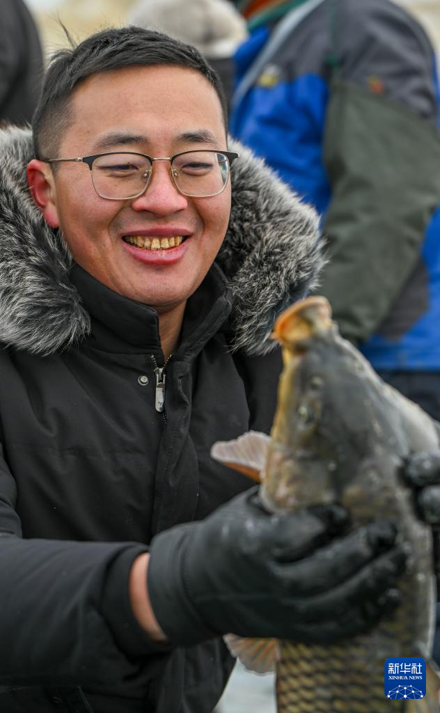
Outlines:
{"type": "Polygon", "coordinates": [[[247,30],[228,0],[140,0],[129,12],[128,23],[166,32],[197,47],[220,76],[230,101],[235,78],[232,56],[247,30]]]}

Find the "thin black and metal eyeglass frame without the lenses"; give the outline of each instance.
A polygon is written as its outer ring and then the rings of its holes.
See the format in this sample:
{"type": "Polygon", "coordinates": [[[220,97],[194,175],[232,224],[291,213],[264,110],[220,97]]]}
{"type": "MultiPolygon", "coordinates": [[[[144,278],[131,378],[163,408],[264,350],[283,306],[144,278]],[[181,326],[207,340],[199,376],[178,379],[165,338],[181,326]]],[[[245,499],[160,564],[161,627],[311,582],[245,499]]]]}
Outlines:
{"type": "MultiPolygon", "coordinates": [[[[227,158],[227,161],[228,161],[230,167],[231,167],[232,162],[236,158],[239,158],[239,156],[240,156],[240,154],[235,153],[234,151],[220,151],[215,148],[195,148],[193,150],[180,151],[179,153],[175,153],[173,156],[149,156],[148,154],[140,153],[139,151],[106,151],[106,153],[95,153],[91,156],[78,156],[77,158],[46,158],[46,159],[44,159],[44,163],[86,163],[88,165],[88,168],[90,168],[90,170],[92,171],[93,161],[95,161],[97,158],[101,158],[101,156],[120,155],[121,153],[126,154],[126,155],[142,156],[143,158],[148,159],[148,161],[151,164],[152,169],[153,169],[153,163],[155,161],[169,161],[170,162],[171,180],[173,180],[173,184],[175,185],[176,190],[178,190],[178,192],[181,193],[182,195],[187,196],[187,198],[213,198],[215,195],[220,195],[220,193],[222,193],[225,190],[225,188],[227,186],[227,181],[222,186],[222,189],[218,191],[218,193],[213,193],[211,195],[195,196],[195,195],[191,195],[190,193],[184,193],[183,190],[181,190],[178,187],[176,180],[175,180],[175,175],[173,173],[173,160],[175,158],[185,155],[185,153],[217,153],[222,156],[225,156],[227,158]]],[[[134,198],[139,198],[140,195],[143,195],[143,193],[145,193],[145,190],[147,190],[148,186],[150,185],[152,175],[153,175],[153,170],[150,171],[150,175],[148,176],[148,181],[147,181],[147,183],[145,183],[143,190],[141,190],[139,193],[136,193],[136,195],[128,196],[128,198],[108,198],[108,196],[101,195],[101,193],[98,192],[96,185],[93,183],[93,174],[92,174],[92,185],[93,185],[93,188],[96,190],[96,193],[98,194],[98,196],[100,198],[103,198],[104,200],[133,200],[134,198]]],[[[229,178],[229,174],[228,174],[228,178],[229,178]]]]}

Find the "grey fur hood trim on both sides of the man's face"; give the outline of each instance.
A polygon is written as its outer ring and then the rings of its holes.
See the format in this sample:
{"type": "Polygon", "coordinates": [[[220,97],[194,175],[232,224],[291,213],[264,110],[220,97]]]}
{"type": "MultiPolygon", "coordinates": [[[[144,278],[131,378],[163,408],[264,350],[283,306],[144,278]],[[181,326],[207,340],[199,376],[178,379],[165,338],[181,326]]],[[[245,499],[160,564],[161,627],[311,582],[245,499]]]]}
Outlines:
{"type": "MultiPolygon", "coordinates": [[[[322,267],[318,219],[263,162],[234,141],[232,210],[217,258],[235,298],[235,349],[273,347],[273,323],[314,286],[322,267]]],[[[71,255],[26,186],[31,132],[0,130],[0,342],[42,356],[88,333],[90,318],[69,280],[71,255]]]]}

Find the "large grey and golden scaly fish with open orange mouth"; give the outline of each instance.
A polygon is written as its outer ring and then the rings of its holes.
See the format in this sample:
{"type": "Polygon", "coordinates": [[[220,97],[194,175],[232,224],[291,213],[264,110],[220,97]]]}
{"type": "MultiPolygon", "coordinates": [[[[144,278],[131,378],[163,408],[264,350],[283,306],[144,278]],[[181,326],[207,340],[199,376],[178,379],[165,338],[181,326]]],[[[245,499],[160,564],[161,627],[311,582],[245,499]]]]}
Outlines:
{"type": "Polygon", "coordinates": [[[283,369],[270,436],[251,431],[215,443],[212,457],[260,481],[271,513],[340,503],[352,529],[393,520],[408,553],[406,572],[399,606],[366,634],[325,646],[233,632],[225,641],[250,670],[275,670],[278,713],[439,713],[433,538],[401,474],[406,458],[439,448],[435,423],[341,337],[324,297],[285,310],[272,337],[283,369]],[[413,656],[426,660],[426,696],[390,703],[384,663],[413,656]]]}

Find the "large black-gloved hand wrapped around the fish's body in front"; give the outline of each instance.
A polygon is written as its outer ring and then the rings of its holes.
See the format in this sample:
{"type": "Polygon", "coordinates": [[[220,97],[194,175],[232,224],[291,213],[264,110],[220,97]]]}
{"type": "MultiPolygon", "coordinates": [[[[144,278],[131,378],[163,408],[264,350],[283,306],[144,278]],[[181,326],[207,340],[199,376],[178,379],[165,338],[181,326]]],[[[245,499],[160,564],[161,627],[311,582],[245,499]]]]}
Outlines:
{"type": "Polygon", "coordinates": [[[160,627],[175,645],[226,633],[327,643],[369,629],[399,602],[405,555],[385,520],[332,539],[347,519],[339,506],[271,515],[252,489],[160,533],[148,565],[160,627]]]}

